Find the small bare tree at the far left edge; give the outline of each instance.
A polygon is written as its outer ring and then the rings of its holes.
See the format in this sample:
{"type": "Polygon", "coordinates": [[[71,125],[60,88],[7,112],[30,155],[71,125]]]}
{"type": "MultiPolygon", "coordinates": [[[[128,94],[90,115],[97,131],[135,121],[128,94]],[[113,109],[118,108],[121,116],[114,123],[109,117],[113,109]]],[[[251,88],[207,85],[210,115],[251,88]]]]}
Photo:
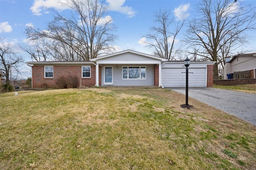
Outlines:
{"type": "Polygon", "coordinates": [[[10,83],[10,69],[13,68],[19,72],[19,64],[23,62],[23,58],[14,52],[14,46],[11,43],[4,42],[4,38],[0,37],[0,72],[6,77],[6,83],[10,83]]]}

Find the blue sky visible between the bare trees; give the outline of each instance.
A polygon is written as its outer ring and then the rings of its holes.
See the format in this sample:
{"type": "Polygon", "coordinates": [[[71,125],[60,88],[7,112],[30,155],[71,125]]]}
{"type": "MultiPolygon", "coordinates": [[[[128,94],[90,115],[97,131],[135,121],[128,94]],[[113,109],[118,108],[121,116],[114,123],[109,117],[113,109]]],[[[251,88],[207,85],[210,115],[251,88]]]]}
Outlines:
{"type": "MultiPolygon", "coordinates": [[[[200,0],[105,0],[105,3],[109,5],[108,15],[113,18],[113,24],[117,27],[117,51],[134,49],[150,53],[139,40],[142,35],[149,33],[150,26],[154,25],[154,12],[162,8],[170,10],[176,17],[179,12],[188,12],[189,21],[194,18],[196,5],[200,0]]],[[[255,4],[256,0],[243,0],[243,3],[255,4]]],[[[26,40],[26,26],[45,29],[47,23],[53,19],[50,10],[45,7],[54,8],[61,13],[66,11],[60,7],[57,0],[0,0],[0,37],[5,38],[6,42],[21,44],[26,40]]],[[[180,32],[178,42],[182,40],[185,29],[180,32]]],[[[256,35],[252,35],[254,37],[246,47],[256,49],[256,35]]],[[[25,62],[31,61],[28,54],[21,51],[21,55],[25,57],[25,62]]],[[[24,72],[26,69],[30,68],[24,68],[24,72]]]]}

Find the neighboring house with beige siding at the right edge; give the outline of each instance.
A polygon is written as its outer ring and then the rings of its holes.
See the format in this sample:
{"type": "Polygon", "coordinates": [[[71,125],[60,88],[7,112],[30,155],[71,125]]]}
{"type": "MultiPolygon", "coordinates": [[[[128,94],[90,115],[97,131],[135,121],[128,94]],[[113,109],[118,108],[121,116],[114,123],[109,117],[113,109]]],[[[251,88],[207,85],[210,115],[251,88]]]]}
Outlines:
{"type": "MultiPolygon", "coordinates": [[[[247,78],[255,79],[256,53],[238,54],[233,57],[227,57],[224,64],[224,79],[228,79],[227,74],[239,71],[248,71],[250,76],[247,78]]],[[[234,77],[236,78],[236,77],[234,77]]]]}

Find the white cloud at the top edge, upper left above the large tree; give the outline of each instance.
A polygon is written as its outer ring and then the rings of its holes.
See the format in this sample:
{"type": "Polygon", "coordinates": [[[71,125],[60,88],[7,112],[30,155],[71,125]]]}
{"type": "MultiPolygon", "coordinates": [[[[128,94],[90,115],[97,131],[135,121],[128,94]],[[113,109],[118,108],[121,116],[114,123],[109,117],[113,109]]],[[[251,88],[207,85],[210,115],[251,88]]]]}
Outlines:
{"type": "MultiPolygon", "coordinates": [[[[42,10],[45,10],[46,8],[55,8],[56,10],[62,11],[69,8],[68,6],[63,5],[65,2],[67,2],[67,0],[34,0],[30,10],[34,15],[42,15],[42,10]]],[[[44,13],[48,14],[49,12],[44,11],[44,13]]]]}

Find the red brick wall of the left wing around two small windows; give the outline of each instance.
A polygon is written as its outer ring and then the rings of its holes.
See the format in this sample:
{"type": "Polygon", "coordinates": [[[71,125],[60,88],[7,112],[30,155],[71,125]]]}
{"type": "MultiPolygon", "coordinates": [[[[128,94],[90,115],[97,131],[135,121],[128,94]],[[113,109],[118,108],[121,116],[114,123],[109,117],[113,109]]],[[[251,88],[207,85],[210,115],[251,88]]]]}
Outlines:
{"type": "Polygon", "coordinates": [[[96,85],[96,67],[91,65],[91,77],[82,78],[82,66],[67,66],[67,65],[54,65],[53,66],[53,78],[44,78],[44,65],[32,66],[32,85],[33,88],[41,88],[42,85],[47,87],[57,87],[56,79],[62,76],[77,76],[79,78],[79,85],[90,87],[96,85]]]}

